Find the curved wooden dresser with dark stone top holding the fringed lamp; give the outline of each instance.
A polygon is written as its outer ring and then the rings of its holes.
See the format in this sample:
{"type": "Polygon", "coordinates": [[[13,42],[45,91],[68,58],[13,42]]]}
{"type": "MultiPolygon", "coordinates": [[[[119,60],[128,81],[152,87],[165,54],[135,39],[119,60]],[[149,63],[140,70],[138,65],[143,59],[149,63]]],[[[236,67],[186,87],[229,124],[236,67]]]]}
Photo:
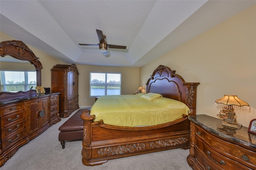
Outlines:
{"type": "Polygon", "coordinates": [[[188,164],[196,170],[256,169],[256,142],[247,127],[226,132],[220,119],[208,115],[188,118],[191,148],[188,164]]]}

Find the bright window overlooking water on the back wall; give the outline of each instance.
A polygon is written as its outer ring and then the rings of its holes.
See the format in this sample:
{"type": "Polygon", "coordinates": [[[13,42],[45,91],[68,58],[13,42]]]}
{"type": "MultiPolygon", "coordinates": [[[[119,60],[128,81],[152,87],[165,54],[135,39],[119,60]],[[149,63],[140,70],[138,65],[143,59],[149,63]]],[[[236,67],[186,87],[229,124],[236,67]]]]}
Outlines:
{"type": "Polygon", "coordinates": [[[121,74],[90,73],[90,97],[121,94],[121,74]]]}

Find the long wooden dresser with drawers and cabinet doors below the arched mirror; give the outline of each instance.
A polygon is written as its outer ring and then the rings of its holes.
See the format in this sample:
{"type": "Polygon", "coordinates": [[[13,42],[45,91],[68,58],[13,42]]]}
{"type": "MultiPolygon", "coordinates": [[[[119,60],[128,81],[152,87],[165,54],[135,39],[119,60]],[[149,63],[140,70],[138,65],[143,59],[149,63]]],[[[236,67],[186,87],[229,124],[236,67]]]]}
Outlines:
{"type": "Polygon", "coordinates": [[[0,101],[0,166],[20,148],[52,124],[61,121],[60,93],[38,95],[35,91],[19,92],[21,98],[0,101]],[[22,94],[20,94],[22,93],[22,94]]]}

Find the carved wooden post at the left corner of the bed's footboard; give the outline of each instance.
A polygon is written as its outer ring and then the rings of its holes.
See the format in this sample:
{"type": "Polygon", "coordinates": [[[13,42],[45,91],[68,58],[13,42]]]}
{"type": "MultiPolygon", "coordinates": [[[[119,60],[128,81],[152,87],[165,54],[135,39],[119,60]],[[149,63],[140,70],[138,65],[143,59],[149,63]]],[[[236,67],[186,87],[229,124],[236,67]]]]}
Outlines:
{"type": "Polygon", "coordinates": [[[86,166],[90,166],[92,160],[92,122],[94,116],[90,116],[89,113],[89,110],[84,110],[81,115],[81,118],[84,121],[84,136],[82,140],[82,163],[86,166]]]}

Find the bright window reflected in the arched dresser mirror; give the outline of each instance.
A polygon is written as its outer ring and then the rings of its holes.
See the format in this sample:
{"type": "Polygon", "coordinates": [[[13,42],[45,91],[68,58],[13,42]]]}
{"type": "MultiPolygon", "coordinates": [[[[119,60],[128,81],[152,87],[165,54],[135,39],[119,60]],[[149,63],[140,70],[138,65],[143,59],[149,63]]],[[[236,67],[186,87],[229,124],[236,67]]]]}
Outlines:
{"type": "Polygon", "coordinates": [[[2,91],[28,91],[36,87],[36,71],[0,71],[2,91]]]}

